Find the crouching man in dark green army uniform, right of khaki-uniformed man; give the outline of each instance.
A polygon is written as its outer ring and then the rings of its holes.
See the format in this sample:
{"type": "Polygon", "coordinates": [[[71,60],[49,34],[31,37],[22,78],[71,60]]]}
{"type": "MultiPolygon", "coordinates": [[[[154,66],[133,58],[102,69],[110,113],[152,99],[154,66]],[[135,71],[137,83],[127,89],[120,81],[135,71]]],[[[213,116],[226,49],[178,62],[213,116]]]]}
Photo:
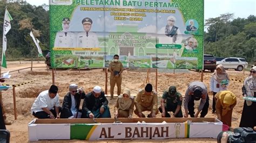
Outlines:
{"type": "Polygon", "coordinates": [[[171,117],[168,111],[173,112],[172,117],[183,117],[181,104],[181,94],[177,92],[176,87],[171,86],[168,91],[164,91],[159,111],[162,113],[162,117],[171,117]]]}

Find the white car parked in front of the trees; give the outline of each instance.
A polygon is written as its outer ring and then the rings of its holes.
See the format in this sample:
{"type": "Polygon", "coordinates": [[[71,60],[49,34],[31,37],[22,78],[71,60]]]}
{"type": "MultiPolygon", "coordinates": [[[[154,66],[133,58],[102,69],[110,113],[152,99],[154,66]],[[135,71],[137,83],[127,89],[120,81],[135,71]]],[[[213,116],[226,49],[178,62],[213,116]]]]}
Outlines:
{"type": "Polygon", "coordinates": [[[216,65],[223,65],[225,69],[235,69],[238,71],[242,71],[244,68],[247,68],[248,63],[246,62],[246,60],[244,58],[234,58],[234,57],[230,57],[230,58],[225,58],[221,61],[217,61],[216,65]]]}

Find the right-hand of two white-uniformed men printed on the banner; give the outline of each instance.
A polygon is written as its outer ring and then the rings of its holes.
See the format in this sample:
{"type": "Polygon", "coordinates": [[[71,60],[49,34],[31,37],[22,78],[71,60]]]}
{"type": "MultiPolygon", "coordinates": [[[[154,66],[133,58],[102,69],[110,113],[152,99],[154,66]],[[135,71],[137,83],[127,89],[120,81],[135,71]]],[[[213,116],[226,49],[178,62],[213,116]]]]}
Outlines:
{"type": "MultiPolygon", "coordinates": [[[[78,33],[78,47],[80,48],[98,48],[99,41],[97,34],[94,32],[90,32],[92,26],[92,19],[86,17],[82,20],[82,24],[85,32],[78,33]]],[[[85,51],[85,55],[91,55],[91,53],[95,53],[93,51],[85,51]]]]}

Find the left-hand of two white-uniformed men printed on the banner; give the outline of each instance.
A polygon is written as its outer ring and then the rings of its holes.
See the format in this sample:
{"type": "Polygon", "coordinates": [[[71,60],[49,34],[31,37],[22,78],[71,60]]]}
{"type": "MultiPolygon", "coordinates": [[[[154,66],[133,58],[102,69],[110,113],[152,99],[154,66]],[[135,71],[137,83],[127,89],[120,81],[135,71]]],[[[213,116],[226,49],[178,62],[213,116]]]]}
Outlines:
{"type": "Polygon", "coordinates": [[[63,31],[57,32],[54,47],[76,47],[76,34],[69,32],[69,18],[62,19],[63,31]]]}

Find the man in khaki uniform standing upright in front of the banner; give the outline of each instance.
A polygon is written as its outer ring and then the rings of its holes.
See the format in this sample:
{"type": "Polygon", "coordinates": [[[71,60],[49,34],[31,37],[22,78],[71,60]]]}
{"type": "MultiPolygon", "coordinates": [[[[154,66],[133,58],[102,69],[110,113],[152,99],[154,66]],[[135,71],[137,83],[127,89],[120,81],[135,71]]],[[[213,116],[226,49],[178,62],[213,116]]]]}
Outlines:
{"type": "Polygon", "coordinates": [[[114,85],[117,83],[117,95],[121,94],[122,72],[124,67],[122,62],[118,61],[119,55],[114,55],[114,61],[109,65],[110,70],[110,99],[114,98],[114,85]]]}

